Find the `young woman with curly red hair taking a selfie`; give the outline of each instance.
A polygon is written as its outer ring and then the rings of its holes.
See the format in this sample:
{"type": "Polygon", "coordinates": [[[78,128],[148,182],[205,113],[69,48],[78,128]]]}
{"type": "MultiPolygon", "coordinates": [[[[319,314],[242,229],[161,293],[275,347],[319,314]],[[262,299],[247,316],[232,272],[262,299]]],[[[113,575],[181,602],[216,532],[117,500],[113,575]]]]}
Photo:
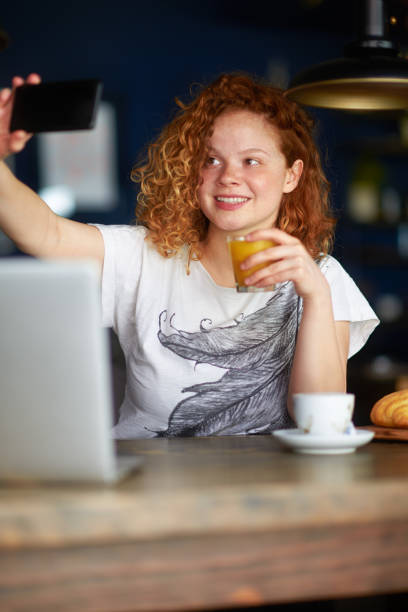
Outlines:
{"type": "MultiPolygon", "coordinates": [[[[8,133],[12,91],[0,96],[4,157],[29,135],[8,133]]],[[[60,218],[1,163],[0,226],[34,256],[100,263],[104,323],[127,366],[116,437],[291,426],[291,395],[345,391],[347,358],[378,323],[328,255],[335,221],[312,121],[241,74],[179,107],[133,170],[135,225],[60,218]],[[273,291],[236,292],[229,234],[275,243],[243,264],[266,263],[247,283],[273,291]]]]}

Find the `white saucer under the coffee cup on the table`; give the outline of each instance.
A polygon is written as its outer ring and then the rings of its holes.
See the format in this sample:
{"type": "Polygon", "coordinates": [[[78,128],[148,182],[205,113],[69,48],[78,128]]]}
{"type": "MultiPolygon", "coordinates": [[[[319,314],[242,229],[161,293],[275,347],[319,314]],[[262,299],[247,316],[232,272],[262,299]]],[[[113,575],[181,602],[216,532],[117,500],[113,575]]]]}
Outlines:
{"type": "Polygon", "coordinates": [[[350,434],[336,436],[312,436],[305,434],[300,429],[278,429],[273,435],[285,446],[297,453],[310,455],[343,455],[354,453],[356,448],[368,444],[374,432],[366,429],[356,429],[350,434]]]}

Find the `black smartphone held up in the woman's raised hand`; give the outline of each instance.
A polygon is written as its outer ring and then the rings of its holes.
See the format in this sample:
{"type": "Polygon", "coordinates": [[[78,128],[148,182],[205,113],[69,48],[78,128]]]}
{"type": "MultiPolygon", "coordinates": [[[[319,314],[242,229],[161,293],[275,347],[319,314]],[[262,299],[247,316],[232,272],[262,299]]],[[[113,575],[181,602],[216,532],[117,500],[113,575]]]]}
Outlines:
{"type": "Polygon", "coordinates": [[[14,94],[10,131],[90,130],[101,94],[102,83],[97,79],[21,85],[14,94]]]}

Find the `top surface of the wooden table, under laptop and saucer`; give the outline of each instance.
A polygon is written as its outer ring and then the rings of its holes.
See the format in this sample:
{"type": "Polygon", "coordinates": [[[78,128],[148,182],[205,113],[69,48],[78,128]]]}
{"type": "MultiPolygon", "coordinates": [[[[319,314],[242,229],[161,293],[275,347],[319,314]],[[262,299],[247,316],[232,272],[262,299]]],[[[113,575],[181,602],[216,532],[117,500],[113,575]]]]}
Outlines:
{"type": "Polygon", "coordinates": [[[0,547],[406,519],[408,444],[301,455],[273,436],[118,442],[143,465],[113,486],[0,486],[0,547]]]}

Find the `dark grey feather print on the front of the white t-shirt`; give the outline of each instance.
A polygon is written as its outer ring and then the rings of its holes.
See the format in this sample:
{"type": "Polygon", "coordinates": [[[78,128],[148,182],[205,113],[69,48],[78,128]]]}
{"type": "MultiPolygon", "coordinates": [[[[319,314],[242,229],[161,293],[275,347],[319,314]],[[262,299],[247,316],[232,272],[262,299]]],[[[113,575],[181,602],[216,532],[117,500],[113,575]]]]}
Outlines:
{"type": "Polygon", "coordinates": [[[197,364],[226,370],[216,381],[183,389],[193,393],[179,402],[168,428],[158,436],[210,436],[269,432],[290,426],[286,410],[290,370],[301,316],[301,300],[293,284],[283,283],[265,306],[226,327],[203,319],[200,331],[162,331],[161,344],[197,364]]]}

